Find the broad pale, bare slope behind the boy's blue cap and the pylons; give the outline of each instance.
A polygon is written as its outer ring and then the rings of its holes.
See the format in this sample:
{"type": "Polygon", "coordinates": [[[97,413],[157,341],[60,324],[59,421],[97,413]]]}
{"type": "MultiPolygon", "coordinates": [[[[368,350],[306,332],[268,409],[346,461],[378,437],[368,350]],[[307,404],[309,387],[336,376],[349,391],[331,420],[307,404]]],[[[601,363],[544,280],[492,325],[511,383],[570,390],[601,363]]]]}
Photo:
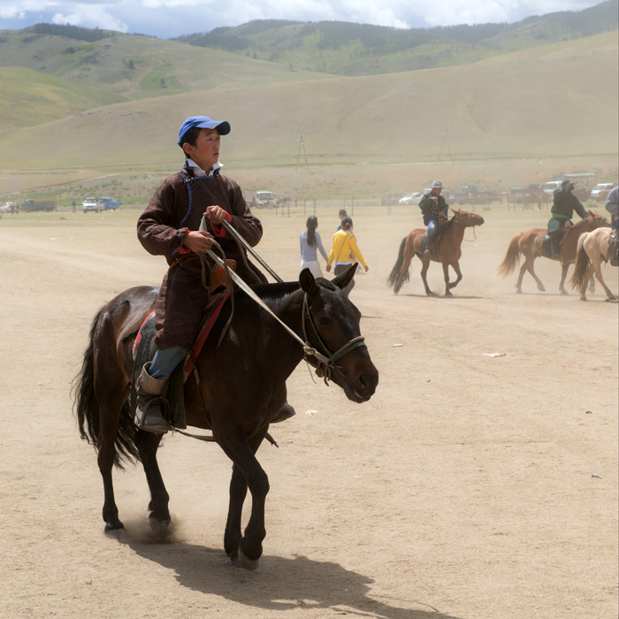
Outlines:
{"type": "Polygon", "coordinates": [[[289,159],[299,134],[312,157],[325,161],[423,161],[436,156],[443,126],[450,127],[455,157],[613,153],[616,75],[616,35],[600,34],[466,67],[213,88],[4,134],[0,153],[13,154],[0,154],[0,167],[41,165],[50,157],[57,165],[78,164],[92,143],[93,164],[173,159],[177,127],[198,112],[232,121],[229,157],[247,165],[289,159]]]}

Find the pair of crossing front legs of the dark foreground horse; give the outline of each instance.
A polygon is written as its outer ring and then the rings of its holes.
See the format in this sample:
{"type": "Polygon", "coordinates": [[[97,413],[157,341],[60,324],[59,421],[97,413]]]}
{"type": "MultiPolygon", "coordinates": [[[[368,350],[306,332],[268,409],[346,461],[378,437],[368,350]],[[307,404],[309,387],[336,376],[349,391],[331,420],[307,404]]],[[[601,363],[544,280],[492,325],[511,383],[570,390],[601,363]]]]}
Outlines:
{"type": "Polygon", "coordinates": [[[249,443],[247,439],[232,429],[224,432],[218,439],[225,454],[234,462],[224,545],[233,562],[246,569],[258,567],[259,559],[263,554],[262,542],[266,536],[264,501],[269,493],[269,478],[255,455],[265,434],[266,429],[249,443]],[[241,477],[244,478],[245,483],[241,477]],[[251,493],[251,516],[249,516],[245,534],[241,537],[241,509],[247,489],[251,493]],[[235,539],[239,539],[236,548],[233,547],[235,539]]]}

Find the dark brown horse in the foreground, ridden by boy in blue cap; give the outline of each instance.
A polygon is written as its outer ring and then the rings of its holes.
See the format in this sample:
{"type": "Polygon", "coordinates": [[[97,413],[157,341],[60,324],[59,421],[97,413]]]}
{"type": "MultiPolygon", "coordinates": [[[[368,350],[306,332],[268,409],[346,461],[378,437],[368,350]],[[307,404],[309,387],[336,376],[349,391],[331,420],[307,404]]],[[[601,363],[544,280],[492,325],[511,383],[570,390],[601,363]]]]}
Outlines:
{"type": "MultiPolygon", "coordinates": [[[[314,279],[304,269],[298,282],[253,289],[279,320],[307,342],[305,352],[318,376],[339,385],[348,400],[364,402],[376,390],[378,371],[359,332],[361,314],[341,292],[354,274],[352,267],[329,281],[314,279]],[[311,356],[312,350],[316,355],[311,356]],[[325,361],[320,362],[317,355],[325,361]]],[[[190,376],[185,383],[185,409],[187,424],[210,429],[233,461],[225,552],[236,565],[255,569],[266,535],[264,500],[269,492],[269,479],[256,460],[256,451],[286,401],[286,380],[302,361],[304,347],[248,294],[233,295],[233,318],[221,344],[219,335],[231,314],[229,302],[196,359],[198,377],[190,376]],[[248,489],[251,516],[242,534],[241,510],[248,489]]],[[[161,435],[138,430],[127,401],[134,363],[132,336],[153,310],[156,298],[157,288],[134,287],[105,305],[93,321],[76,377],[80,434],[96,447],[103,477],[106,532],[124,528],[112,485],[112,466],[120,467],[122,459],[142,462],[151,496],[151,527],[166,531],[171,522],[169,497],[157,464],[161,435]]]]}

